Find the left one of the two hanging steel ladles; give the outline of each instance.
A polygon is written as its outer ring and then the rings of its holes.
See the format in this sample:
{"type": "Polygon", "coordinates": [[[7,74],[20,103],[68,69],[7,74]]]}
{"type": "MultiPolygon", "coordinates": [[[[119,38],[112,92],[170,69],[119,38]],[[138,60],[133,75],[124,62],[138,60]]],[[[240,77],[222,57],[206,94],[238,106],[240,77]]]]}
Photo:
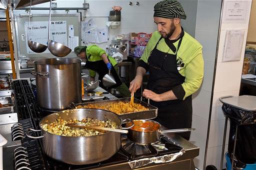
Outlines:
{"type": "Polygon", "coordinates": [[[32,0],[30,0],[30,8],[29,8],[29,16],[28,16],[28,26],[27,26],[27,45],[29,46],[29,48],[37,53],[43,52],[47,49],[46,45],[43,45],[41,43],[32,41],[30,39],[28,39],[28,33],[29,33],[29,25],[30,25],[30,13],[31,13],[31,3],[32,0]]]}

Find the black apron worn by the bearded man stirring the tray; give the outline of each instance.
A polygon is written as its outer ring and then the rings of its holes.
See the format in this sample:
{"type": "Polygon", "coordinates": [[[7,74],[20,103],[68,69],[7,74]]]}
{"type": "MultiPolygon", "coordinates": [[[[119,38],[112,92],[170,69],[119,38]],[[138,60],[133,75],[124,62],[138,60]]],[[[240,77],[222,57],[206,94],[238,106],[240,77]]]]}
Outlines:
{"type": "MultiPolygon", "coordinates": [[[[158,40],[161,40],[162,37],[158,40]]],[[[177,70],[176,54],[181,44],[179,39],[175,54],[162,52],[156,49],[156,45],[148,57],[149,80],[147,87],[155,93],[163,93],[171,90],[174,86],[184,82],[185,77],[177,70]]],[[[192,97],[184,100],[153,101],[150,104],[158,107],[158,115],[154,119],[168,129],[190,128],[192,121],[192,97]]],[[[185,139],[189,139],[190,132],[179,133],[185,139]]]]}

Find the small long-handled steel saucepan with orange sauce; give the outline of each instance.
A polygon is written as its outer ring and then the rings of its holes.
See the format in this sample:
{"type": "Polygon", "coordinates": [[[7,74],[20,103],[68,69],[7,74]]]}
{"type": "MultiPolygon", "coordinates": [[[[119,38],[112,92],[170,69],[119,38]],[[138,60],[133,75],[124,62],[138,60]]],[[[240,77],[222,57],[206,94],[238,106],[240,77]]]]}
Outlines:
{"type": "MultiPolygon", "coordinates": [[[[159,140],[161,133],[193,131],[195,128],[179,128],[161,130],[161,124],[153,120],[137,119],[132,120],[134,126],[128,129],[128,138],[136,143],[149,144],[159,140]]],[[[128,122],[126,126],[130,126],[128,122]]]]}

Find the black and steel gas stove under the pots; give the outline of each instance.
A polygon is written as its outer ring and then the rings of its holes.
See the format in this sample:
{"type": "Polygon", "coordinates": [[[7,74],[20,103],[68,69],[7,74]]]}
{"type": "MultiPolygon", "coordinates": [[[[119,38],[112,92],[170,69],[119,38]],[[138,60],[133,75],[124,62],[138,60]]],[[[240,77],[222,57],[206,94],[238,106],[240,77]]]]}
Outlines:
{"type": "MultiPolygon", "coordinates": [[[[86,165],[66,164],[48,157],[43,152],[42,140],[26,136],[28,128],[40,129],[42,117],[52,113],[42,110],[36,103],[29,83],[26,80],[13,81],[13,89],[19,106],[18,122],[11,124],[11,140],[16,144],[3,147],[3,167],[10,169],[131,169],[131,168],[173,168],[194,169],[193,158],[199,154],[199,148],[178,135],[164,136],[160,140],[141,145],[121,135],[120,149],[109,159],[86,165]],[[180,151],[183,151],[180,154],[180,151]],[[170,161],[170,155],[180,154],[170,161]],[[6,156],[5,156],[6,155],[6,156]],[[161,160],[161,161],[159,161],[161,160]]],[[[30,131],[29,135],[39,136],[39,132],[30,131]]]]}

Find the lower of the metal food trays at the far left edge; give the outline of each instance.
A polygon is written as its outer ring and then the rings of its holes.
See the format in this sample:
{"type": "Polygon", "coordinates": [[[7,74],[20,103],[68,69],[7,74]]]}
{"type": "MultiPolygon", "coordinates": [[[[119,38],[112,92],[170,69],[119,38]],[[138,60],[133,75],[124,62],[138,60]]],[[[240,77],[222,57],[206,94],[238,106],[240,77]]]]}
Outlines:
{"type": "Polygon", "coordinates": [[[10,97],[10,96],[0,97],[0,103],[2,104],[1,107],[0,107],[0,114],[14,112],[13,99],[14,98],[10,97]]]}

